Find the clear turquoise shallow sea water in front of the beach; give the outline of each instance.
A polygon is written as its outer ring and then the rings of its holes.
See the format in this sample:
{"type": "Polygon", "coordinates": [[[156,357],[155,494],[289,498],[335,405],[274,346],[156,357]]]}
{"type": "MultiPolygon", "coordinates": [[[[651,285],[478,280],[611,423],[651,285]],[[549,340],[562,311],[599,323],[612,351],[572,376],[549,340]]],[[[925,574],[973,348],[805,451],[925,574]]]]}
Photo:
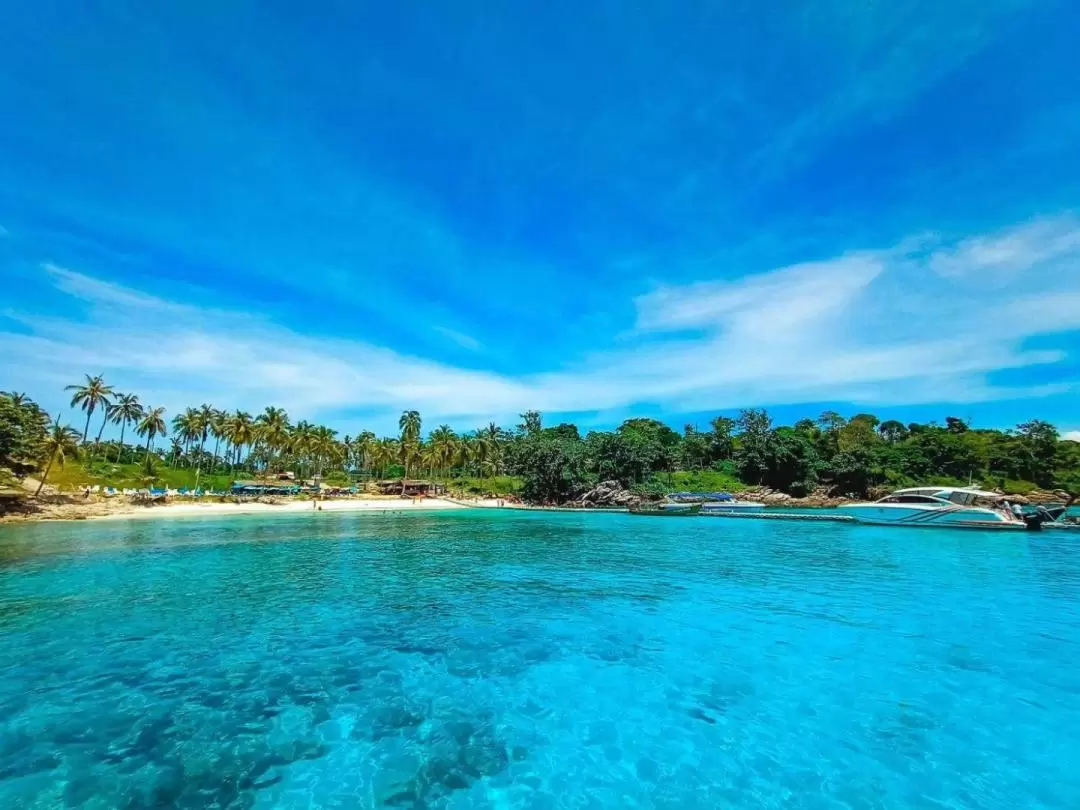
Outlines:
{"type": "Polygon", "coordinates": [[[1077,808],[1080,538],[0,530],[0,807],[1077,808]]]}

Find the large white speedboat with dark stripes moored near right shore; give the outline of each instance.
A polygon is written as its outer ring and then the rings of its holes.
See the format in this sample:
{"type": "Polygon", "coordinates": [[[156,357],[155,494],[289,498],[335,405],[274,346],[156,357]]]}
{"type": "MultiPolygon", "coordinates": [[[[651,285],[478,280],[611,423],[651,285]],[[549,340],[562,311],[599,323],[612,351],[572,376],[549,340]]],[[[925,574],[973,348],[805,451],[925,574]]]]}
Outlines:
{"type": "Polygon", "coordinates": [[[874,503],[837,507],[838,514],[879,526],[936,526],[980,529],[1025,529],[1022,517],[1004,502],[1007,496],[968,487],[897,489],[874,503]]]}

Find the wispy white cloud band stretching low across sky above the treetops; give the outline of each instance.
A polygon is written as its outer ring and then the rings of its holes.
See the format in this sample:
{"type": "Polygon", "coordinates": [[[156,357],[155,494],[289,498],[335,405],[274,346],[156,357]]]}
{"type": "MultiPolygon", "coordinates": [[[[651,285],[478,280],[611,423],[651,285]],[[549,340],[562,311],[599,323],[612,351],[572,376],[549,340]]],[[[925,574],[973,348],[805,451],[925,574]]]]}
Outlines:
{"type": "Polygon", "coordinates": [[[57,293],[80,300],[84,319],[21,313],[22,329],[0,332],[0,354],[8,384],[35,392],[104,373],[173,413],[204,401],[245,409],[272,403],[302,418],[363,409],[379,423],[404,407],[478,421],[530,407],[603,411],[647,403],[674,413],[823,400],[982,402],[1076,384],[1002,387],[990,375],[1065,359],[1059,348],[1026,341],[1080,328],[1078,260],[1080,222],[1061,218],[955,245],[922,242],[913,251],[907,243],[738,281],[662,287],[637,298],[629,346],[521,376],[307,337],[252,314],[49,266],[57,293]],[[1011,278],[981,285],[991,266],[1008,267],[1011,278]]]}

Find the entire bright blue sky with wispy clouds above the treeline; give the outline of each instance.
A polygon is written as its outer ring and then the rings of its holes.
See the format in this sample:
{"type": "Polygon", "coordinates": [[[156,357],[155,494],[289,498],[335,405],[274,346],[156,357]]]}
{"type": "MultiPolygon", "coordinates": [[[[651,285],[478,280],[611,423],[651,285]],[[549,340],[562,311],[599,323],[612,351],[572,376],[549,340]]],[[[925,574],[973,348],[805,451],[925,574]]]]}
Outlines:
{"type": "Polygon", "coordinates": [[[1080,430],[1080,9],[397,5],[8,9],[3,387],[1080,430]]]}

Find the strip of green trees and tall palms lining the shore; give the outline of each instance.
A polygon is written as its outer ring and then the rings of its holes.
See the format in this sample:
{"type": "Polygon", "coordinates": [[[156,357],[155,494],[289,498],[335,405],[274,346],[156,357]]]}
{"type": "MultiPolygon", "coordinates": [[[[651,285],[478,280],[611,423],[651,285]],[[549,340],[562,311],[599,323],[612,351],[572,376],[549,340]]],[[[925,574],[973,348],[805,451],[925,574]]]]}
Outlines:
{"type": "Polygon", "coordinates": [[[526,411],[510,429],[491,423],[459,434],[442,424],[424,438],[420,414],[406,410],[395,436],[339,438],[324,426],[293,423],[276,407],[252,416],[202,405],[166,423],[163,408],[143,406],[102,377],[69,388],[72,406],[85,414],[81,433],[51,420],[25,394],[0,394],[0,467],[71,483],[60,470],[78,455],[84,476],[117,486],[224,486],[285,470],[341,484],[423,475],[472,492],[519,491],[534,502],[566,501],[608,480],[640,491],[767,486],[797,496],[820,487],[864,496],[880,486],[969,482],[1011,492],[1080,489],[1080,444],[1062,441],[1040,420],[1001,431],[955,417],[903,424],[828,411],[774,426],[767,411],[746,409],[713,419],[708,430],[677,432],[656,419],[629,419],[582,435],[569,423],[545,428],[538,411],[526,411]],[[120,435],[103,441],[110,422],[120,435]],[[138,444],[125,443],[133,433],[138,444]]]}

